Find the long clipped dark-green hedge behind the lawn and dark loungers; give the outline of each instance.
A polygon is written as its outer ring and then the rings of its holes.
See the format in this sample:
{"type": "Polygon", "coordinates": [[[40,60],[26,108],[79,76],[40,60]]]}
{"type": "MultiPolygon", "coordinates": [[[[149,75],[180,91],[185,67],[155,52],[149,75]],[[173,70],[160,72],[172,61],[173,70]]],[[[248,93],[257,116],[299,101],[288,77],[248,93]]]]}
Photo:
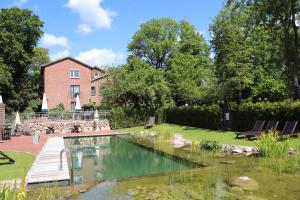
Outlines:
{"type": "MultiPolygon", "coordinates": [[[[250,130],[257,119],[278,120],[279,129],[286,121],[299,121],[300,101],[230,103],[230,129],[250,130]]],[[[222,129],[222,110],[219,105],[173,107],[166,112],[166,122],[172,124],[222,129]]]]}

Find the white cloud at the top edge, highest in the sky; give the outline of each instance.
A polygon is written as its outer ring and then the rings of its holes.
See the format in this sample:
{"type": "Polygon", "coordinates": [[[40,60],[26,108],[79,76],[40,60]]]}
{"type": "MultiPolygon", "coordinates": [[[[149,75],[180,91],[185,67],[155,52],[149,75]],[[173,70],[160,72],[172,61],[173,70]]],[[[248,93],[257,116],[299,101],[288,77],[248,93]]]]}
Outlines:
{"type": "Polygon", "coordinates": [[[77,32],[90,33],[93,29],[111,28],[116,12],[101,6],[103,0],[69,0],[64,6],[79,13],[80,24],[77,32]]]}

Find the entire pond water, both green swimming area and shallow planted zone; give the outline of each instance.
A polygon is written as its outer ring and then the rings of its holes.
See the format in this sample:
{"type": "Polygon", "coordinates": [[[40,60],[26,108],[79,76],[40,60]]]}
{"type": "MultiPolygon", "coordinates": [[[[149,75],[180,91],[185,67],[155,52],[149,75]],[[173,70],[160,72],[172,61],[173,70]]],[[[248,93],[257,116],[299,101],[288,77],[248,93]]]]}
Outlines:
{"type": "Polygon", "coordinates": [[[74,183],[99,181],[78,199],[300,200],[300,173],[278,172],[266,159],[136,142],[207,166],[174,160],[116,137],[66,139],[72,148],[74,183]],[[249,177],[254,186],[232,184],[240,177],[249,177]]]}

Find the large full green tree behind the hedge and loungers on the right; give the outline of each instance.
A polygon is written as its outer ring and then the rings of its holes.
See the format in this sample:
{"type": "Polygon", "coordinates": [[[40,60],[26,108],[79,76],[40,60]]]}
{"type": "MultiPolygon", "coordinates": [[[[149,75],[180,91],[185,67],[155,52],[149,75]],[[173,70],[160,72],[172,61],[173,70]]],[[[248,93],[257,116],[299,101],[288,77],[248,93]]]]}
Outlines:
{"type": "MultiPolygon", "coordinates": [[[[221,96],[227,100],[256,100],[260,89],[287,88],[280,31],[251,24],[252,5],[230,1],[210,29],[215,52],[216,75],[221,96]],[[280,86],[274,85],[278,82],[280,86]],[[264,87],[262,87],[264,86],[264,87]]],[[[274,90],[270,100],[282,100],[289,91],[274,90]],[[284,95],[283,95],[284,94],[284,95]]]]}

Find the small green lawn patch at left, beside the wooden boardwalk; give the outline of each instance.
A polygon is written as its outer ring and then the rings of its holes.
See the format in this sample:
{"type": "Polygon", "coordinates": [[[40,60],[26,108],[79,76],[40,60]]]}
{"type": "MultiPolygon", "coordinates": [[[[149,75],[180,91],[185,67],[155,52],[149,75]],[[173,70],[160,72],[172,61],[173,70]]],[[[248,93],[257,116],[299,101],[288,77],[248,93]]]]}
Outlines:
{"type": "Polygon", "coordinates": [[[4,153],[13,158],[16,162],[14,164],[8,164],[6,159],[0,158],[0,181],[26,176],[35,159],[35,155],[12,151],[6,151],[4,153]]]}

